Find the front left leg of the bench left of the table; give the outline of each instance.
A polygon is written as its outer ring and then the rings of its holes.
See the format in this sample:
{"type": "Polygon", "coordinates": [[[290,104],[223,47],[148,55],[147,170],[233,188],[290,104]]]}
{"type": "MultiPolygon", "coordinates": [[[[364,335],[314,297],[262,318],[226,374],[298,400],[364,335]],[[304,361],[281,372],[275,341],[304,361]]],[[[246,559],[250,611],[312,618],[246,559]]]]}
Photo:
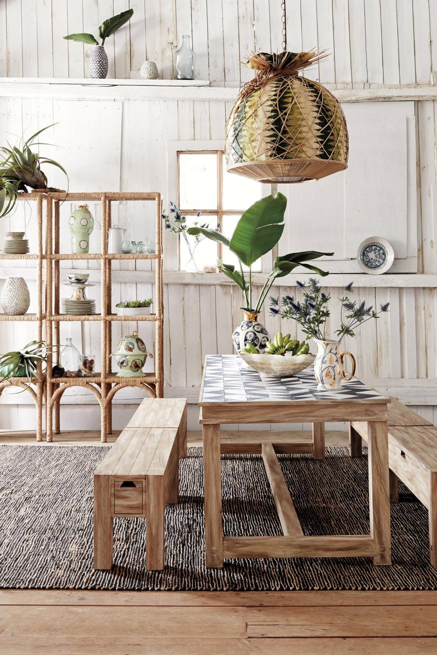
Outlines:
{"type": "Polygon", "coordinates": [[[94,476],[94,569],[111,569],[111,477],[94,476]]]}

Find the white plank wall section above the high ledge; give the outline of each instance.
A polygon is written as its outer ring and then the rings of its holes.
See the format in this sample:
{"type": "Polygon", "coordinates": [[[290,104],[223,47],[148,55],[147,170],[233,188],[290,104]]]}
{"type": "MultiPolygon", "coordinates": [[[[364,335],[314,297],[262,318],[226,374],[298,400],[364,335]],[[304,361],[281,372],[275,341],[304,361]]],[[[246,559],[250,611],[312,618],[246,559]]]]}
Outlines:
{"type": "MultiPolygon", "coordinates": [[[[128,78],[145,58],[172,77],[183,34],[196,75],[235,86],[252,50],[280,50],[280,0],[1,0],[0,77],[88,77],[92,47],[71,32],[96,34],[112,14],[134,9],[130,26],[107,39],[108,77],[128,78]]],[[[435,0],[286,0],[288,48],[328,48],[309,77],[322,83],[430,84],[437,70],[435,0]]],[[[434,79],[435,81],[435,79],[434,79]]]]}

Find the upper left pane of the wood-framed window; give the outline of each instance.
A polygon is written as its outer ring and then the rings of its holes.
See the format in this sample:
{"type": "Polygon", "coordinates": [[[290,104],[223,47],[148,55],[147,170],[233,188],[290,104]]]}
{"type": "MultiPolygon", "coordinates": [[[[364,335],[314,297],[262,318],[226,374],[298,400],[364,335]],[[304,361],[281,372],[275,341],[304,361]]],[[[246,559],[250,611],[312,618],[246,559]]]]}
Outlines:
{"type": "Polygon", "coordinates": [[[181,210],[217,209],[216,153],[180,153],[179,195],[181,210]]]}

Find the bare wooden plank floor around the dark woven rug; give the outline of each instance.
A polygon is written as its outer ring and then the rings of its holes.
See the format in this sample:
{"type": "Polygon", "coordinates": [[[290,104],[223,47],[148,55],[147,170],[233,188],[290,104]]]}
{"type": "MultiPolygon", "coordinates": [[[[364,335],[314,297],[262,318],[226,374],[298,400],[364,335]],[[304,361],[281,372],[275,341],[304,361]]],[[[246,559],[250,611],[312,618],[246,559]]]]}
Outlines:
{"type": "MultiPolygon", "coordinates": [[[[67,432],[53,445],[99,445],[99,434],[67,432]]],[[[296,441],[310,438],[295,434],[296,441]]],[[[0,433],[0,443],[35,443],[35,436],[0,433]]],[[[201,445],[199,432],[189,434],[189,443],[201,445]]],[[[327,443],[346,445],[347,435],[328,433],[327,443]]],[[[0,589],[0,652],[431,655],[437,653],[437,591],[0,589]]]]}

